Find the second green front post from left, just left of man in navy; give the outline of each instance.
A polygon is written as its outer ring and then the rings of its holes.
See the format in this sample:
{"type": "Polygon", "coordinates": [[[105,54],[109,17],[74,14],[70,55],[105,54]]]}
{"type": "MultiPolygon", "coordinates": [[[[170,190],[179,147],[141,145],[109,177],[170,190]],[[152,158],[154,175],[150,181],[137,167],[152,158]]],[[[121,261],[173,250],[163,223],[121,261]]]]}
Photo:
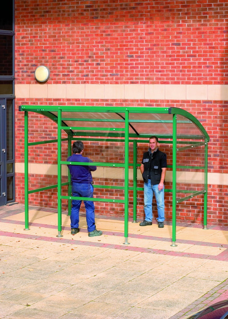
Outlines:
{"type": "Polygon", "coordinates": [[[58,235],[56,237],[63,237],[61,235],[62,231],[62,189],[61,189],[61,183],[62,183],[62,169],[61,169],[61,158],[62,158],[62,130],[61,130],[61,124],[62,124],[62,110],[58,109],[58,190],[57,190],[57,197],[58,197],[58,235]]]}

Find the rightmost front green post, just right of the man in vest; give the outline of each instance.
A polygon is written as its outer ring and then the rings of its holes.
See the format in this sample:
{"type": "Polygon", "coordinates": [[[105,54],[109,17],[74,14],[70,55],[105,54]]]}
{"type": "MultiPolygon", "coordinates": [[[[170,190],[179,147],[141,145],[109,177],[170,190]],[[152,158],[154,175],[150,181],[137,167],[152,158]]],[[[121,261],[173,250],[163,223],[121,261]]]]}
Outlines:
{"type": "Polygon", "coordinates": [[[177,115],[173,115],[172,128],[172,247],[176,247],[176,210],[177,210],[177,115]]]}

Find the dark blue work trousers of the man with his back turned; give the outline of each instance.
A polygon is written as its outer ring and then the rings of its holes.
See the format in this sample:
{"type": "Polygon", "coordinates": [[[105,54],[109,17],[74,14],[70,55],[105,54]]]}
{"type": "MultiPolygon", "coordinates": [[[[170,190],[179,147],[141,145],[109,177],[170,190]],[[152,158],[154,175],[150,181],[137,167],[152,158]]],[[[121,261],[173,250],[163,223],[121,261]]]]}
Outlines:
{"type": "MultiPolygon", "coordinates": [[[[93,185],[84,183],[72,183],[72,195],[76,197],[91,197],[93,198],[93,185]]],[[[79,210],[81,206],[81,200],[72,200],[71,209],[71,228],[79,227],[79,210]]],[[[95,213],[94,213],[94,202],[84,200],[86,208],[86,221],[88,232],[95,230],[95,213]]]]}

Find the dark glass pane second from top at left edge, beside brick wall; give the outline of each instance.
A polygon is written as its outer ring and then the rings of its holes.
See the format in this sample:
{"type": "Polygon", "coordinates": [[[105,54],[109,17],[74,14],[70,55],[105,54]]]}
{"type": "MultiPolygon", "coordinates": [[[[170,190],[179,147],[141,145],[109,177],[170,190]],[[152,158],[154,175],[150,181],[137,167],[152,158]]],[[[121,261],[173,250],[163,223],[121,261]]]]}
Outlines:
{"type": "Polygon", "coordinates": [[[0,35],[0,75],[13,75],[12,39],[12,35],[0,35]]]}

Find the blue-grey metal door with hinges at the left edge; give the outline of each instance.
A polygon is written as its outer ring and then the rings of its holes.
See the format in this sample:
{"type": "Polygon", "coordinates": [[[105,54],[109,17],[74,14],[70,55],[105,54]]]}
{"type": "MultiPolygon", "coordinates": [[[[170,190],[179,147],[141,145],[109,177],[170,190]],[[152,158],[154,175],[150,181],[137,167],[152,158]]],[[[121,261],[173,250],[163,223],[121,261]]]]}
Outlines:
{"type": "Polygon", "coordinates": [[[0,100],[0,206],[6,204],[6,105],[0,100]]]}

